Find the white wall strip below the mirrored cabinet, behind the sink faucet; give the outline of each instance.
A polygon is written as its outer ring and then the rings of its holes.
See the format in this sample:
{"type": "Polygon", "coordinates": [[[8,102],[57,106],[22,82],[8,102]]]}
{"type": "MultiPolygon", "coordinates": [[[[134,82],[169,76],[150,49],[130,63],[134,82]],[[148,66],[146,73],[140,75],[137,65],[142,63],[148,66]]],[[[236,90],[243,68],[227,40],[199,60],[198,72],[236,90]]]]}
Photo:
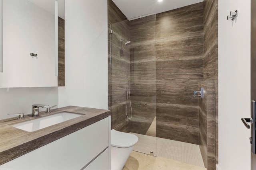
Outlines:
{"type": "Polygon", "coordinates": [[[31,114],[32,104],[58,105],[58,87],[0,88],[0,119],[18,117],[8,113],[31,114]]]}

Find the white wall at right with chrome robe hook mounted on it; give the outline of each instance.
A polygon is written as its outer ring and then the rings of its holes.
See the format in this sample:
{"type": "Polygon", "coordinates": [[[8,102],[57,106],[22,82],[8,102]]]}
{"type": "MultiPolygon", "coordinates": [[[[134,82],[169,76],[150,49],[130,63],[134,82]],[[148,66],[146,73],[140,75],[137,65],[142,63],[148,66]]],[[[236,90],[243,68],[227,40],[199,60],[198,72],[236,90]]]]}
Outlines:
{"type": "Polygon", "coordinates": [[[219,0],[219,170],[250,170],[250,0],[219,0]],[[227,20],[239,10],[236,20],[227,20]]]}

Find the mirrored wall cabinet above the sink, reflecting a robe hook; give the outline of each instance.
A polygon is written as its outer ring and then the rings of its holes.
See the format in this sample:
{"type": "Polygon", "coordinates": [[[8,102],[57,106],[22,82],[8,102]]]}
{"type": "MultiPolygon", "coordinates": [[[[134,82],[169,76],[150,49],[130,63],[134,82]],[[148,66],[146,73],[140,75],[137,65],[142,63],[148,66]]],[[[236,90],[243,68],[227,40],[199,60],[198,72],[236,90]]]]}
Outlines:
{"type": "Polygon", "coordinates": [[[0,88],[64,86],[64,0],[0,3],[0,88]]]}

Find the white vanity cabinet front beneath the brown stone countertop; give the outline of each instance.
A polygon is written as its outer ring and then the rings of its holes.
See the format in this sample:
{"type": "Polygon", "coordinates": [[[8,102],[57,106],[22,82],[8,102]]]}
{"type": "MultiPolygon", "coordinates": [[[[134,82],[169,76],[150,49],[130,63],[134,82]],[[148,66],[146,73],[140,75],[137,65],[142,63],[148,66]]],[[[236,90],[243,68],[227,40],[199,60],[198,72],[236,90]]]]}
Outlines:
{"type": "Polygon", "coordinates": [[[110,116],[6,162],[13,170],[110,170],[110,116]]]}

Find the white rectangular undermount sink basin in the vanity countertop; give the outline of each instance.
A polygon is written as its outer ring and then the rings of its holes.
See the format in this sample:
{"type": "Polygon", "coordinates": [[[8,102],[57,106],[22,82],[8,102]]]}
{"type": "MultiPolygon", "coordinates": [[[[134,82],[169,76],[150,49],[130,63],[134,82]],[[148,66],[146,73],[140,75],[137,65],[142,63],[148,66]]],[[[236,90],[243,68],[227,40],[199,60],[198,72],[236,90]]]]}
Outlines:
{"type": "Polygon", "coordinates": [[[11,125],[12,127],[16,127],[18,129],[22,129],[24,131],[33,132],[39,129],[43,129],[45,127],[56,125],[57,123],[61,123],[84,114],[72,113],[68,111],[62,111],[60,113],[56,113],[49,116],[38,117],[36,119],[30,121],[24,121],[21,123],[16,123],[11,125]]]}

